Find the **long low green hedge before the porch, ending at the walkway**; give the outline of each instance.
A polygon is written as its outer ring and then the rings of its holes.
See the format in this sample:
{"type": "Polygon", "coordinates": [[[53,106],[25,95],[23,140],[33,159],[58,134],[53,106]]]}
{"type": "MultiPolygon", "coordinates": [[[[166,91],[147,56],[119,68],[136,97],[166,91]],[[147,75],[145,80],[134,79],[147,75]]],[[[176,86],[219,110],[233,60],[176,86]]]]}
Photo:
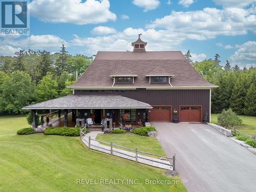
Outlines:
{"type": "Polygon", "coordinates": [[[76,137],[80,136],[79,128],[69,128],[69,127],[56,127],[48,128],[44,132],[45,135],[62,135],[76,137]]]}

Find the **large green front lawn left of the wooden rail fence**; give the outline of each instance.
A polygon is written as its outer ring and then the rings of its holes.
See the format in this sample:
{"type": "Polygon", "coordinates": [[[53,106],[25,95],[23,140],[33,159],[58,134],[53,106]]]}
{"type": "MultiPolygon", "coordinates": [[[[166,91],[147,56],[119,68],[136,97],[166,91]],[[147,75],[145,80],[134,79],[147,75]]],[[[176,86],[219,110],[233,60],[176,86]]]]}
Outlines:
{"type": "Polygon", "coordinates": [[[78,137],[16,135],[24,116],[0,117],[0,191],[186,191],[184,185],[144,184],[179,180],[165,171],[88,150],[78,137]],[[76,184],[77,179],[138,179],[142,184],[76,184]]]}

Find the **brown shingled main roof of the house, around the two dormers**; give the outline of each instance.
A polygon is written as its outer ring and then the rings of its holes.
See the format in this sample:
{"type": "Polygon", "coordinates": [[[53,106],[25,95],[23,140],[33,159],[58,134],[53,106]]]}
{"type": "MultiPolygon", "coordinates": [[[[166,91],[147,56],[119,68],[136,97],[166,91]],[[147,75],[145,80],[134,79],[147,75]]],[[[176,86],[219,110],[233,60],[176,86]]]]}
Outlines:
{"type": "Polygon", "coordinates": [[[145,53],[98,52],[87,71],[82,74],[77,82],[69,87],[111,88],[113,79],[110,76],[121,68],[125,68],[138,76],[135,77],[133,84],[115,83],[114,88],[168,87],[169,89],[175,89],[175,87],[216,87],[201,77],[185,59],[181,51],[147,51],[145,53]],[[146,75],[152,73],[157,67],[166,74],[174,75],[170,80],[173,87],[170,87],[168,83],[150,83],[149,77],[146,77],[146,75]]]}

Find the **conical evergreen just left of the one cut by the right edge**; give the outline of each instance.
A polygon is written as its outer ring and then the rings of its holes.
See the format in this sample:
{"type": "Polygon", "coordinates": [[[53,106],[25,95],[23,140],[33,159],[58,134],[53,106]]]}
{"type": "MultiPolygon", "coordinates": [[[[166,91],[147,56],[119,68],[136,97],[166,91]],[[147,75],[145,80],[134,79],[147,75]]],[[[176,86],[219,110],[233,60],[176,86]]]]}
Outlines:
{"type": "Polygon", "coordinates": [[[236,84],[234,84],[230,98],[230,107],[238,115],[243,115],[245,96],[246,90],[244,88],[242,78],[239,77],[236,81],[236,84]]]}

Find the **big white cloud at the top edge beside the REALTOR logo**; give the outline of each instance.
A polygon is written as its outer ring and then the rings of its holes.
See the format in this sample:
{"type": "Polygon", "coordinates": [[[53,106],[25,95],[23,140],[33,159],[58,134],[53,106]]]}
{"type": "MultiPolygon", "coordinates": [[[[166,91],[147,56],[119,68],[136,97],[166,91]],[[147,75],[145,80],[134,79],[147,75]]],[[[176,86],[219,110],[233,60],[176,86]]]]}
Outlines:
{"type": "Polygon", "coordinates": [[[108,0],[34,0],[29,4],[31,16],[44,22],[77,25],[105,23],[116,20],[108,0]]]}

